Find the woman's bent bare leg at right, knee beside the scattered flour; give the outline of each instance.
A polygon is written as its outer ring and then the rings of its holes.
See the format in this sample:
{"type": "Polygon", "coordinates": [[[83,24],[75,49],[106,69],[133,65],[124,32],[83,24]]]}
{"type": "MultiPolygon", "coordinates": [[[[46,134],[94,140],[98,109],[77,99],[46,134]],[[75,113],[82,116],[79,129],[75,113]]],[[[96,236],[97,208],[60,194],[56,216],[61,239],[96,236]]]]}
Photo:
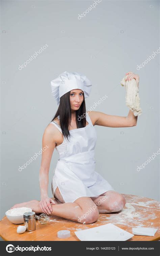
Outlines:
{"type": "Polygon", "coordinates": [[[118,212],[126,204],[124,196],[113,190],[109,190],[98,197],[91,197],[91,199],[96,204],[99,213],[118,212]]]}

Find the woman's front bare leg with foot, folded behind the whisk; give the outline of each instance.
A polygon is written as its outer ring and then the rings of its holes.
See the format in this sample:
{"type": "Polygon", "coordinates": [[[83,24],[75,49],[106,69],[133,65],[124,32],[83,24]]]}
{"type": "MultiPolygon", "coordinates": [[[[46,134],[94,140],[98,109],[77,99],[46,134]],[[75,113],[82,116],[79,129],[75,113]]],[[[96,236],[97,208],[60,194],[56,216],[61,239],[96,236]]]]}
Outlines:
{"type": "MultiPolygon", "coordinates": [[[[29,207],[35,213],[42,213],[38,200],[31,200],[24,203],[15,204],[12,208],[29,207]]],[[[95,203],[90,197],[80,197],[73,203],[51,204],[52,213],[68,220],[89,224],[97,221],[99,212],[95,203]]]]}

